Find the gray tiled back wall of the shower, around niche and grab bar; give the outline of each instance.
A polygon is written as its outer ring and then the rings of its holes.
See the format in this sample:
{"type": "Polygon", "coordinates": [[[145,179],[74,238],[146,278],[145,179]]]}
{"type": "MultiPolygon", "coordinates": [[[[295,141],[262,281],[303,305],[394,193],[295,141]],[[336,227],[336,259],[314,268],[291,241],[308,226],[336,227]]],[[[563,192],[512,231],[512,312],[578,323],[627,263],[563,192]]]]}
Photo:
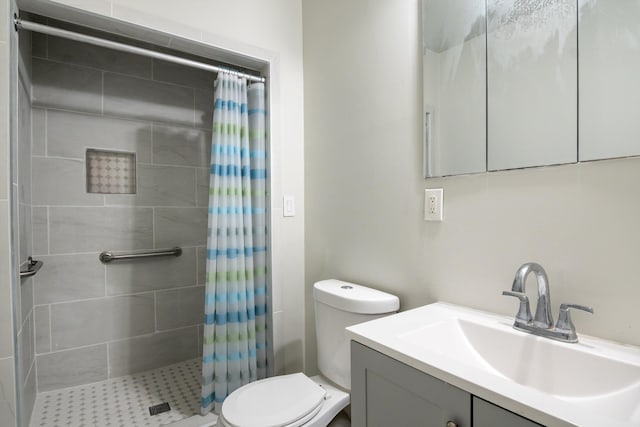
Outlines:
{"type": "Polygon", "coordinates": [[[33,34],[32,79],[38,390],[198,357],[215,74],[33,34]],[[135,153],[137,193],[88,193],[87,148],[135,153]]]}

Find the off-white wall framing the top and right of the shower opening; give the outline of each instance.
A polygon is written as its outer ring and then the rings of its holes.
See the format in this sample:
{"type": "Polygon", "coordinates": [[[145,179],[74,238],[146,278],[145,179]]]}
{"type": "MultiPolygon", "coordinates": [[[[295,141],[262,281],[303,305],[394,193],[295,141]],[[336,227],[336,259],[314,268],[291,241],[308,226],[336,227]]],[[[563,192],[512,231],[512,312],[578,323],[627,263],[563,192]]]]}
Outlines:
{"type": "MultiPolygon", "coordinates": [[[[208,46],[268,61],[271,152],[272,311],[274,372],[303,368],[304,351],[304,145],[302,11],[299,1],[249,0],[22,0],[25,9],[163,31],[208,46]],[[62,12],[60,12],[62,10],[62,12]],[[86,16],[85,16],[86,18],[86,16]],[[282,215],[282,195],[296,199],[296,216],[282,215]]],[[[173,45],[175,40],[169,40],[173,45]]]]}

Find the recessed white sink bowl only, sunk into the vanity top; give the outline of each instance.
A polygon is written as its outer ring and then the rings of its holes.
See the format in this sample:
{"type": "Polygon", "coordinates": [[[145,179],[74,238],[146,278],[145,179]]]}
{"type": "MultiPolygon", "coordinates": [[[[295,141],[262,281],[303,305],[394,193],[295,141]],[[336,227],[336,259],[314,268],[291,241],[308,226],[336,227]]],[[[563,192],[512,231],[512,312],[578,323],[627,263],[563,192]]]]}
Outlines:
{"type": "Polygon", "coordinates": [[[615,393],[640,384],[640,365],[602,357],[581,346],[491,325],[450,319],[400,334],[400,339],[431,349],[454,348],[461,363],[560,398],[615,393]]]}

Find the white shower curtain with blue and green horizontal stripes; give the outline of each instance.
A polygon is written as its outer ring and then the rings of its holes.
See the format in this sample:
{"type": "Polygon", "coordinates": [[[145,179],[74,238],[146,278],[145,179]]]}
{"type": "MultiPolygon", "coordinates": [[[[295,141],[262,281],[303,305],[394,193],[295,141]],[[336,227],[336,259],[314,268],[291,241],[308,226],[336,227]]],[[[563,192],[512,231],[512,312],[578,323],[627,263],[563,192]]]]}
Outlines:
{"type": "Polygon", "coordinates": [[[219,73],[215,83],[201,412],[266,376],[266,131],[264,83],[219,73]]]}

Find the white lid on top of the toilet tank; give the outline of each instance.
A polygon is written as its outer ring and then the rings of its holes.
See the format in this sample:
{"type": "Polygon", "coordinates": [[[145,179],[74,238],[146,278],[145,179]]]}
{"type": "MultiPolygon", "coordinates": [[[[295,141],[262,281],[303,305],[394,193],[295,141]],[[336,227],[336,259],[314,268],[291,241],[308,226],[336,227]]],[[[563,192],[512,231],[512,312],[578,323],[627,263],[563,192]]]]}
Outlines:
{"type": "Polygon", "coordinates": [[[383,314],[398,311],[400,307],[395,295],[336,279],[316,282],[313,298],[350,313],[383,314]]]}

